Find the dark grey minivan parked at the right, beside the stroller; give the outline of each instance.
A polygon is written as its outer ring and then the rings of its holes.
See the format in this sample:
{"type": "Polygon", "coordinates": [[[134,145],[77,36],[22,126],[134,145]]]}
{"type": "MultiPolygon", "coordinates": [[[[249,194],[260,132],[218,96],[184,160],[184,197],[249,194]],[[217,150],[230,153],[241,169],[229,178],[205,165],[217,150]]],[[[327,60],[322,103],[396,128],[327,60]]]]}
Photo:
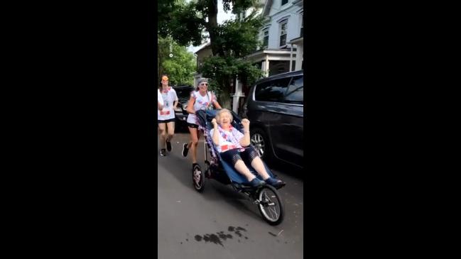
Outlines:
{"type": "Polygon", "coordinates": [[[251,87],[242,115],[251,144],[264,160],[276,158],[303,167],[304,72],[283,73],[251,87]]]}

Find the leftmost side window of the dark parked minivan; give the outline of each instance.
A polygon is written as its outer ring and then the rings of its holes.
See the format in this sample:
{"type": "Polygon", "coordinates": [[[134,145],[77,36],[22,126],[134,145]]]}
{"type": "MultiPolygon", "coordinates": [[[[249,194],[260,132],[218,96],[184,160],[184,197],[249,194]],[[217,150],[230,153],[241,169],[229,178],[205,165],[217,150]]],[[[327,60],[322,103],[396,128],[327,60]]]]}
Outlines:
{"type": "Polygon", "coordinates": [[[286,89],[288,88],[288,82],[290,82],[290,77],[258,84],[254,92],[255,100],[283,101],[283,95],[285,95],[286,89]]]}

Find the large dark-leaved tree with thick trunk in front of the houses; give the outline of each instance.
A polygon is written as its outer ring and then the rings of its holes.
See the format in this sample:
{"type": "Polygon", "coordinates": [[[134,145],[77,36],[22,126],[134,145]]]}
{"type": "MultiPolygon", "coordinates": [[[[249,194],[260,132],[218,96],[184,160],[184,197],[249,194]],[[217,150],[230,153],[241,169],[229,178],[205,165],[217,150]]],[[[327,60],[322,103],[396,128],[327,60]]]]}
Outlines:
{"type": "MultiPolygon", "coordinates": [[[[258,7],[257,0],[222,0],[224,11],[241,14],[251,7],[258,7]]],[[[250,62],[242,60],[245,55],[256,50],[259,45],[259,29],[263,18],[254,11],[246,18],[237,18],[222,25],[217,23],[217,0],[197,0],[176,6],[171,14],[168,31],[180,45],[200,45],[210,38],[213,57],[205,60],[201,71],[205,77],[213,79],[214,87],[221,92],[219,102],[230,107],[231,84],[237,77],[244,84],[261,76],[261,71],[250,62]]]]}

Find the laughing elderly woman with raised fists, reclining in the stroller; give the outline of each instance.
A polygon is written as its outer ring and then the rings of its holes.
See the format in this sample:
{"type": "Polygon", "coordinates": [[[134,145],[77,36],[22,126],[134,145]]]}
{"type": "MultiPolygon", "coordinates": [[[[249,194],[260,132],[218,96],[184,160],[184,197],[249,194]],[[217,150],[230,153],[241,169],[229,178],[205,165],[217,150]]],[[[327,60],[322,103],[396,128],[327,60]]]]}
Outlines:
{"type": "Polygon", "coordinates": [[[212,136],[212,141],[215,143],[222,160],[228,162],[229,165],[234,165],[237,172],[246,177],[250,187],[259,187],[264,184],[276,188],[283,187],[285,185],[283,181],[269,176],[263,161],[250,145],[250,121],[248,119],[242,120],[243,134],[232,127],[232,121],[232,114],[227,109],[219,110],[215,119],[212,119],[213,128],[210,131],[210,136],[212,136]],[[244,160],[254,168],[264,181],[259,180],[250,172],[244,160]]]}

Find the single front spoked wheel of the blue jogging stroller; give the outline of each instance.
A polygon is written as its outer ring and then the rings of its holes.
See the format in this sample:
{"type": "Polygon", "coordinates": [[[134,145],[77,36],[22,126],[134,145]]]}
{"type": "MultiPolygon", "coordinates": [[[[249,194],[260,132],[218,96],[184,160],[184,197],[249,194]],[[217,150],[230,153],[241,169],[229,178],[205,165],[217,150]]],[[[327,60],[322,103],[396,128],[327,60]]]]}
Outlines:
{"type": "Polygon", "coordinates": [[[272,226],[281,224],[285,211],[277,190],[270,185],[265,185],[258,190],[257,196],[258,209],[264,220],[272,226]]]}

